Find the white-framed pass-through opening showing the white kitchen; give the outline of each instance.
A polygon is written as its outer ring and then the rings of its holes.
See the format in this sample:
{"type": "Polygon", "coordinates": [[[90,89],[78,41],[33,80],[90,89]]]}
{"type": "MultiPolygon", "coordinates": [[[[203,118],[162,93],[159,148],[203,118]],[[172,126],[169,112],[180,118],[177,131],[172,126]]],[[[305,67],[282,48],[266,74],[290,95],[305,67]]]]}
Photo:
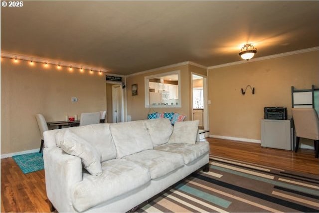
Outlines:
{"type": "Polygon", "coordinates": [[[145,107],[181,107],[180,71],[145,77],[145,107]]]}

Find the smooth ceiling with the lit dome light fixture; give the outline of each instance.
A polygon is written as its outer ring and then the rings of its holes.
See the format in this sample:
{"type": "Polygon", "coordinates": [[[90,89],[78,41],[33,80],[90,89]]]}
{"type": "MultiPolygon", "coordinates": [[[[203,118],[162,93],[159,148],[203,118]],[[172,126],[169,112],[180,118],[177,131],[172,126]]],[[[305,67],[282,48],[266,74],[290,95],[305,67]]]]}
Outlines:
{"type": "Polygon", "coordinates": [[[319,46],[319,1],[23,1],[1,6],[1,52],[127,75],[319,46]]]}

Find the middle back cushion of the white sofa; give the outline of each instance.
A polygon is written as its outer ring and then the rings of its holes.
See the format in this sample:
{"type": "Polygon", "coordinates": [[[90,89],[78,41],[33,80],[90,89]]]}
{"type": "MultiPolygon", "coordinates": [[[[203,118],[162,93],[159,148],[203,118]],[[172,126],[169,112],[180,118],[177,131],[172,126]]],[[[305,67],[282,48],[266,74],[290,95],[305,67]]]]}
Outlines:
{"type": "Polygon", "coordinates": [[[153,143],[144,121],[111,124],[117,158],[153,149],[153,143]]]}

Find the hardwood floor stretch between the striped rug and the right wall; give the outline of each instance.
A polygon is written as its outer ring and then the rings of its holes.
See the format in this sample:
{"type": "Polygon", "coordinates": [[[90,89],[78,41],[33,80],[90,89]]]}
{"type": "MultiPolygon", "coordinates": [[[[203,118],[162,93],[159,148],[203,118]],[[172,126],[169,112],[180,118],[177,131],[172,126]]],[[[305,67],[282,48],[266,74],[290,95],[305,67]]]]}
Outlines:
{"type": "Polygon", "coordinates": [[[210,154],[275,168],[319,175],[319,159],[314,150],[299,149],[298,153],[272,148],[262,148],[260,144],[234,142],[230,140],[206,138],[210,144],[210,154]]]}

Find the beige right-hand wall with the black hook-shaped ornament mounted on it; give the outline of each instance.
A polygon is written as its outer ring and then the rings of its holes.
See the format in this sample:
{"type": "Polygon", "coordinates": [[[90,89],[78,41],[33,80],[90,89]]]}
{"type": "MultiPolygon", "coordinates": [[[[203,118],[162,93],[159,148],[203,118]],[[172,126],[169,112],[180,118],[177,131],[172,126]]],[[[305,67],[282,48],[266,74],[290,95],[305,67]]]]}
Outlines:
{"type": "Polygon", "coordinates": [[[291,118],[291,86],[319,87],[319,51],[208,70],[210,135],[260,140],[265,106],[284,106],[291,118]],[[252,95],[241,88],[255,87],[252,95]]]}

